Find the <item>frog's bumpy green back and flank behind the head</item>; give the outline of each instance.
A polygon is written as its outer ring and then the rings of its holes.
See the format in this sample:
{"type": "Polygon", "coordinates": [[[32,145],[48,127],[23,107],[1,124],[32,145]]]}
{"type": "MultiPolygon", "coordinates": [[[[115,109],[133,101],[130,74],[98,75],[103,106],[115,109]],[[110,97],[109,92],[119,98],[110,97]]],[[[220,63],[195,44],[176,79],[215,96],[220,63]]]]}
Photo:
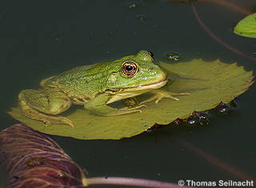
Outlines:
{"type": "Polygon", "coordinates": [[[83,65],[74,69],[62,72],[43,80],[43,86],[56,87],[65,92],[68,96],[91,97],[104,89],[107,80],[107,62],[96,65],[83,65]],[[90,69],[92,68],[93,69],[90,69]]]}

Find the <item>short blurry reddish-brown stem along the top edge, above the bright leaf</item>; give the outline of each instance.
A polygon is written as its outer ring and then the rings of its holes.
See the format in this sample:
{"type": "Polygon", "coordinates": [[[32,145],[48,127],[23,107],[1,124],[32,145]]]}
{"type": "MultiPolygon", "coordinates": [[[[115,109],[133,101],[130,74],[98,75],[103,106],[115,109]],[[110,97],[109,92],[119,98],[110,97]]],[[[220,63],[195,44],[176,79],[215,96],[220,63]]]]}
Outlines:
{"type": "Polygon", "coordinates": [[[228,7],[230,10],[233,10],[234,12],[244,14],[244,15],[252,14],[252,12],[250,10],[245,10],[240,6],[236,6],[235,4],[230,2],[230,0],[228,0],[228,1],[225,1],[225,0],[199,0],[199,1],[200,2],[214,2],[219,5],[228,7]]]}

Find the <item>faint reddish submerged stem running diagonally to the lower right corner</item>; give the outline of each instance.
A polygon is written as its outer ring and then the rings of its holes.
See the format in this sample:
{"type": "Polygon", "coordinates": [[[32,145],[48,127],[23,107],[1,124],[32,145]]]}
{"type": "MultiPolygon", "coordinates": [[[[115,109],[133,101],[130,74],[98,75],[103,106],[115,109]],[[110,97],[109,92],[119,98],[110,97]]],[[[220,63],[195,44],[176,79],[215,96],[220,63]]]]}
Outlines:
{"type": "Polygon", "coordinates": [[[218,166],[219,168],[229,172],[230,174],[233,174],[236,178],[240,178],[243,180],[253,180],[255,182],[255,177],[251,177],[250,175],[243,173],[242,171],[234,168],[233,166],[227,165],[222,160],[214,157],[214,155],[210,155],[209,153],[202,151],[200,148],[194,146],[193,144],[187,142],[186,140],[178,138],[174,138],[174,140],[177,141],[180,145],[182,145],[182,147],[185,147],[189,151],[193,151],[195,154],[199,155],[206,161],[214,164],[215,166],[218,166]]]}

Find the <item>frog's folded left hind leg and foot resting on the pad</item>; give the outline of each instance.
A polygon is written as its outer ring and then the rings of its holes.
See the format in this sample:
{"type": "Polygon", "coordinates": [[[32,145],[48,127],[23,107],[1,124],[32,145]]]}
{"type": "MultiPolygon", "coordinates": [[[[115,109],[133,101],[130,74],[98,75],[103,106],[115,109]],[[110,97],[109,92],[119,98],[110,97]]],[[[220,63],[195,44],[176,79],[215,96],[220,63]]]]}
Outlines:
{"type": "Polygon", "coordinates": [[[71,105],[69,97],[57,88],[22,90],[18,95],[18,103],[24,116],[40,120],[46,126],[68,124],[70,127],[74,127],[70,119],[66,117],[50,116],[66,111],[71,105]]]}

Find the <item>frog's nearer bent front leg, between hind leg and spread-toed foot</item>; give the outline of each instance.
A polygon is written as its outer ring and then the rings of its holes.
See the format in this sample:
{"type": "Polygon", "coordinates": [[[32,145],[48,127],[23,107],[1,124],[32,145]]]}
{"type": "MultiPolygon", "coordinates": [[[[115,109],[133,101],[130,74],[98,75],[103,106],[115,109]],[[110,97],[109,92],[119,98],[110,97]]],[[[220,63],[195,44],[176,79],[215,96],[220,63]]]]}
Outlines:
{"type": "Polygon", "coordinates": [[[94,98],[94,100],[90,100],[89,103],[86,103],[84,107],[99,116],[119,116],[134,112],[142,112],[141,110],[138,110],[138,108],[146,107],[146,105],[139,105],[134,108],[112,108],[106,105],[110,98],[111,96],[104,94],[99,95],[94,98]]]}

